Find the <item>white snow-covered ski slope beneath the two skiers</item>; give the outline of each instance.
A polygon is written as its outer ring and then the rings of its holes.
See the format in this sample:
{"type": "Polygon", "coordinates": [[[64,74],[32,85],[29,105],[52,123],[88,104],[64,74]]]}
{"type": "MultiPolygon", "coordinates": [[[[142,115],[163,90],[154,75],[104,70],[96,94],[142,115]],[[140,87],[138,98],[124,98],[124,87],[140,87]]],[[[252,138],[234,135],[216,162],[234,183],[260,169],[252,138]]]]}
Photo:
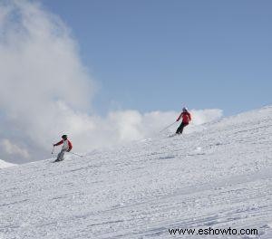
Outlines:
{"type": "Polygon", "coordinates": [[[267,107],[182,136],[4,168],[0,238],[272,238],[271,142],[267,107]],[[209,227],[258,235],[169,233],[209,227]]]}

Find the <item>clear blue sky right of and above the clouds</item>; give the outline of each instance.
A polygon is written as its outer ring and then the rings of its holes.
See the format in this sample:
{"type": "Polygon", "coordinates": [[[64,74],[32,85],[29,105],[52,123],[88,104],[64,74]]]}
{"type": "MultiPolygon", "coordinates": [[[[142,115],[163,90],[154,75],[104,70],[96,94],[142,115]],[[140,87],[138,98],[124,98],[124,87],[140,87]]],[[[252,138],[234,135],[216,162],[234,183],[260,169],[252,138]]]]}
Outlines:
{"type": "Polygon", "coordinates": [[[43,0],[99,82],[94,107],[219,108],[271,104],[272,2],[43,0]]]}

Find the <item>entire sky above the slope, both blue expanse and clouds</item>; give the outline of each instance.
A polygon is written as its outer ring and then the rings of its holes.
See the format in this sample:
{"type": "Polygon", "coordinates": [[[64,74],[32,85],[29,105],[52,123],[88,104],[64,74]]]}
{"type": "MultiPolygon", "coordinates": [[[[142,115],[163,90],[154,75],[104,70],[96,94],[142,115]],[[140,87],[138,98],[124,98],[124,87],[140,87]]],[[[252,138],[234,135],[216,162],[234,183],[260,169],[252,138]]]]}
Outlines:
{"type": "Polygon", "coordinates": [[[271,104],[271,6],[0,0],[0,158],[52,157],[63,134],[75,152],[154,139],[183,106],[190,133],[271,104]]]}

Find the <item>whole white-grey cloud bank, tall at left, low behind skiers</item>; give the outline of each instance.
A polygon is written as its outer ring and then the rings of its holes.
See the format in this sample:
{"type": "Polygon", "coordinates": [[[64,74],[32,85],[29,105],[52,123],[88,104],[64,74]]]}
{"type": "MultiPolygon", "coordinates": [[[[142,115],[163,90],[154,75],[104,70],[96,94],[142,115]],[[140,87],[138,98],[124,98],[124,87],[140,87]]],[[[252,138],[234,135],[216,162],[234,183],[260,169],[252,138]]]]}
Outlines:
{"type": "MultiPolygon", "coordinates": [[[[93,113],[96,84],[69,28],[33,1],[0,3],[0,82],[0,157],[15,163],[49,158],[63,133],[75,151],[90,151],[151,137],[180,113],[93,113]]],[[[197,125],[221,111],[193,115],[197,125]]]]}

